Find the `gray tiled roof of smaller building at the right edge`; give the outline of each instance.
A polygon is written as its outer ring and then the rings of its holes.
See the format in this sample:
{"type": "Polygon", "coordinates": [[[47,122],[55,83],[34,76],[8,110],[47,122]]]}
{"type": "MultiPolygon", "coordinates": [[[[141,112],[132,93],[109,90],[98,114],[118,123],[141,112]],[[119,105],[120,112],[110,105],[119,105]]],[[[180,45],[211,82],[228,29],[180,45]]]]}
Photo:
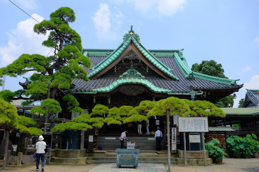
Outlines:
{"type": "Polygon", "coordinates": [[[246,89],[246,97],[242,108],[259,108],[259,90],[246,89]]]}

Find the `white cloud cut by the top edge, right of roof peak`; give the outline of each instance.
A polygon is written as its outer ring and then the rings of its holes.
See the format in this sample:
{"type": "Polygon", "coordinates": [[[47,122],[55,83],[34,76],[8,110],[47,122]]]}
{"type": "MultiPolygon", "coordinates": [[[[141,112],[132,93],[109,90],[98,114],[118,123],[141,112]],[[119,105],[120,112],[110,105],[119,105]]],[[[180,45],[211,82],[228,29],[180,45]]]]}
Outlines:
{"type": "Polygon", "coordinates": [[[129,0],[134,2],[136,9],[149,17],[154,16],[172,16],[177,11],[183,10],[183,5],[187,0],[129,0]]]}

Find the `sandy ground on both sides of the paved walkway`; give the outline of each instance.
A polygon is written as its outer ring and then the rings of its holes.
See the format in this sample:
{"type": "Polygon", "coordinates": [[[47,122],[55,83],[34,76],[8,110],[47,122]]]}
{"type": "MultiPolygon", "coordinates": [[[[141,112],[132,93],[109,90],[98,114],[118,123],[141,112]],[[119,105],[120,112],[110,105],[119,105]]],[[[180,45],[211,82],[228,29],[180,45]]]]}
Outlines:
{"type": "MultiPolygon", "coordinates": [[[[91,169],[97,167],[99,164],[87,164],[87,165],[46,165],[46,172],[87,172],[91,169]]],[[[168,166],[165,165],[168,169],[168,166]]],[[[6,168],[5,171],[36,171],[35,166],[30,166],[22,169],[12,169],[6,168]]],[[[40,170],[41,171],[41,170],[40,170]]],[[[222,171],[233,171],[233,172],[259,172],[259,159],[234,159],[225,158],[221,165],[208,165],[208,166],[181,166],[181,165],[171,165],[171,171],[184,171],[184,172],[222,172],[222,171]]],[[[100,171],[105,172],[105,171],[100,171]]]]}

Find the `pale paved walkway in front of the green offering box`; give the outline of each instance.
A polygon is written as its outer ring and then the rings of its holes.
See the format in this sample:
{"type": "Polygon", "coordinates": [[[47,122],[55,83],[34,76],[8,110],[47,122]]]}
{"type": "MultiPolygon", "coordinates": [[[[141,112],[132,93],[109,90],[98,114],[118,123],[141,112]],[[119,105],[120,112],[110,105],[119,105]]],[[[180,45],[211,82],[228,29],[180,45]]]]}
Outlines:
{"type": "Polygon", "coordinates": [[[138,168],[134,168],[133,166],[121,166],[117,168],[116,163],[105,163],[101,164],[94,169],[90,170],[89,172],[166,172],[166,168],[163,164],[147,164],[147,163],[139,163],[138,168]]]}

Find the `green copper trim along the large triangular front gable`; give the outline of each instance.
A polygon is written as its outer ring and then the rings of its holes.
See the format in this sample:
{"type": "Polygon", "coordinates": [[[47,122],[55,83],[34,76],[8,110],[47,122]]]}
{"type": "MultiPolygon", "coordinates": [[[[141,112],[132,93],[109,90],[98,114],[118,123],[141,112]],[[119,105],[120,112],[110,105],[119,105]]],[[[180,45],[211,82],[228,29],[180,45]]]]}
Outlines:
{"type": "MultiPolygon", "coordinates": [[[[128,34],[124,35],[123,43],[116,50],[114,50],[102,62],[100,62],[99,64],[97,64],[95,67],[92,68],[92,72],[88,75],[88,77],[95,75],[99,71],[103,70],[112,61],[114,61],[120,55],[120,53],[122,53],[125,50],[125,48],[128,46],[128,44],[130,44],[130,42],[133,42],[135,46],[139,49],[139,51],[158,69],[166,73],[171,78],[179,80],[176,76],[174,76],[170,72],[172,69],[168,68],[165,64],[159,61],[152,53],[150,53],[145,47],[143,47],[141,43],[139,43],[139,35],[135,34],[133,30],[130,30],[128,34]]],[[[85,52],[84,55],[87,55],[87,52],[85,52]]]]}

